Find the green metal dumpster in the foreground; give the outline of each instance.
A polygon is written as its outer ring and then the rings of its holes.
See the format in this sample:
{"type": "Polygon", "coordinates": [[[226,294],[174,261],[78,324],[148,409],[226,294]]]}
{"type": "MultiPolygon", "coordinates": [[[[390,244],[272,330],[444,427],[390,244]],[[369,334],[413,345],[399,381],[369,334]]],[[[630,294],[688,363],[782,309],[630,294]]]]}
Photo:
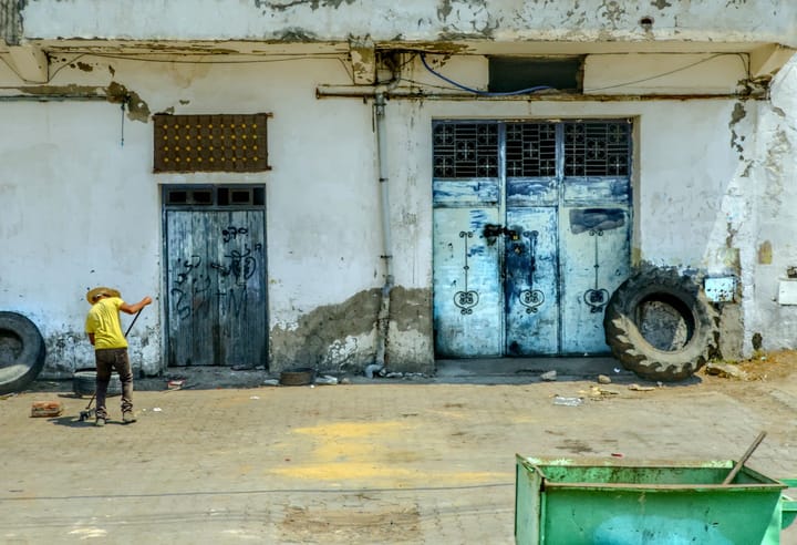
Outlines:
{"type": "MultiPolygon", "coordinates": [[[[681,465],[517,455],[518,545],[768,545],[797,513],[777,481],[729,460],[681,465]]],[[[788,483],[788,484],[787,484],[788,483]]]]}

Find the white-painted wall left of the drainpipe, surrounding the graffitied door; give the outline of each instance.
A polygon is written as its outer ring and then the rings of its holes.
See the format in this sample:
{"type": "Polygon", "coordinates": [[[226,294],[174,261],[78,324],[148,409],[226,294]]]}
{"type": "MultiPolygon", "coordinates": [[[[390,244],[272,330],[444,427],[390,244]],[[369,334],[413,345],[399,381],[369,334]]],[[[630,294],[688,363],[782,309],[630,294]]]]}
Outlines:
{"type": "MultiPolygon", "coordinates": [[[[19,310],[40,326],[50,350],[48,369],[91,364],[82,333],[86,288],[118,286],[131,298],[161,291],[159,184],[267,185],[272,327],[289,328],[318,306],[382,285],[370,109],[358,101],[332,104],[314,97],[319,81],[345,75],[337,60],[256,69],[82,62],[92,69],[68,68],[55,83],[105,86],[113,80],[141,97],[137,116],[143,110],[272,112],[273,169],[155,175],[153,125],[126,116],[121,146],[117,104],[0,102],[0,193],[10,210],[0,220],[0,308],[19,310]]],[[[144,369],[152,372],[159,369],[157,309],[142,315],[132,339],[144,328],[144,369]]]]}

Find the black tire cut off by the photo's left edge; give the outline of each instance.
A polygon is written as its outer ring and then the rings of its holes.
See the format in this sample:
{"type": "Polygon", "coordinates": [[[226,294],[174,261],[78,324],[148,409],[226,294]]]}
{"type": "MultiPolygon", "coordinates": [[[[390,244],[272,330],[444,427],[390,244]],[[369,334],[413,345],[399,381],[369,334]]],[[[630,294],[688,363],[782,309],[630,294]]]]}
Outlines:
{"type": "Polygon", "coordinates": [[[46,348],[41,331],[29,318],[10,311],[0,311],[0,336],[11,332],[22,345],[11,361],[0,362],[0,395],[21,391],[39,377],[44,367],[46,348]]]}

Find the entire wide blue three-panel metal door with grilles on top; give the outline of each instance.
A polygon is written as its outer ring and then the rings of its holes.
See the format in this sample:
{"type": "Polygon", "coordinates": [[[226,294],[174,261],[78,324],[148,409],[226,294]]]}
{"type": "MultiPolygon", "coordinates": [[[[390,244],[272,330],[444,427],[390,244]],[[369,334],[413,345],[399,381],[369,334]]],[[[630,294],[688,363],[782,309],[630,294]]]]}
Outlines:
{"type": "Polygon", "coordinates": [[[439,357],[604,353],[630,266],[630,123],[436,122],[439,357]]]}

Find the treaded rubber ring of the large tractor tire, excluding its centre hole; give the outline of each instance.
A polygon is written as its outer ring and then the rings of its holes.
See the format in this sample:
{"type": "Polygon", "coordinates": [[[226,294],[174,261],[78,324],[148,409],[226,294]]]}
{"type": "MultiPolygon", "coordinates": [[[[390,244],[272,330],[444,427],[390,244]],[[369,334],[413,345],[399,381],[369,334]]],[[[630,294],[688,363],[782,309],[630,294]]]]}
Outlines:
{"type": "Polygon", "coordinates": [[[693,278],[671,268],[640,271],[625,280],[609,299],[603,317],[607,345],[625,369],[662,382],[685,380],[716,353],[718,315],[693,278]],[[640,332],[634,320],[644,300],[677,299],[690,309],[694,323],[691,339],[679,350],[655,348],[640,332]]]}

